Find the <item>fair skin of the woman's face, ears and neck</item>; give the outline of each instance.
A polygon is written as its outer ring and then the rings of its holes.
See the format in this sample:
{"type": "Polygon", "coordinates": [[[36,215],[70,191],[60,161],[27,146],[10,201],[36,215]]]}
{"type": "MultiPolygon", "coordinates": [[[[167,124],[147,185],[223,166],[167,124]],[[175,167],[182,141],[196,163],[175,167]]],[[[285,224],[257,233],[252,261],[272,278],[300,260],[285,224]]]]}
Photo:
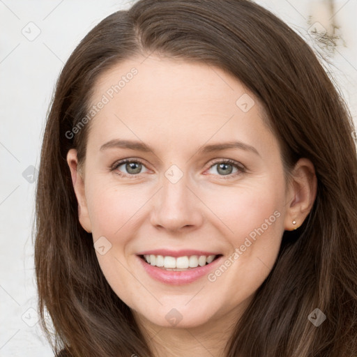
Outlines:
{"type": "Polygon", "coordinates": [[[204,63],[127,60],[100,76],[93,104],[132,67],[137,75],[92,119],[80,169],[75,149],[68,152],[79,221],[93,242],[105,236],[112,245],[105,255],[97,252],[102,272],[132,308],[155,356],[223,356],[235,321],[273,267],[284,230],[300,226],[312,208],[314,167],[303,158],[286,181],[278,140],[257,98],[204,63]],[[236,105],[244,93],[255,100],[248,112],[236,105]],[[100,150],[119,138],[144,142],[153,152],[100,150]],[[258,153],[199,153],[207,144],[231,141],[258,153]],[[134,179],[126,165],[111,171],[125,158],[144,163],[134,179]],[[227,159],[245,170],[228,166],[225,175],[218,165],[227,159]],[[177,183],[165,176],[172,165],[183,173],[177,183]],[[181,286],[164,284],[137,260],[137,252],[158,248],[217,251],[228,259],[276,211],[279,218],[214,282],[204,276],[181,286]],[[172,308],[182,316],[176,326],[165,318],[172,308]]]}

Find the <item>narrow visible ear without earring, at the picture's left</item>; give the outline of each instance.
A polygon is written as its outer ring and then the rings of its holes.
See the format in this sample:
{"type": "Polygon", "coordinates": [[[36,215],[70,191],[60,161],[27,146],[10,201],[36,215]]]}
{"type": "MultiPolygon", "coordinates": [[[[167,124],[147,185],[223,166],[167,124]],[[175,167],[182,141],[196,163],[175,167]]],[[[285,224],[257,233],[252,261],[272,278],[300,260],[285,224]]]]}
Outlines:
{"type": "Polygon", "coordinates": [[[91,233],[91,220],[89,218],[88,208],[86,206],[86,195],[84,190],[84,177],[79,172],[77,150],[70,149],[67,153],[67,163],[70,167],[70,176],[72,176],[73,188],[78,202],[78,218],[83,229],[91,233]]]}

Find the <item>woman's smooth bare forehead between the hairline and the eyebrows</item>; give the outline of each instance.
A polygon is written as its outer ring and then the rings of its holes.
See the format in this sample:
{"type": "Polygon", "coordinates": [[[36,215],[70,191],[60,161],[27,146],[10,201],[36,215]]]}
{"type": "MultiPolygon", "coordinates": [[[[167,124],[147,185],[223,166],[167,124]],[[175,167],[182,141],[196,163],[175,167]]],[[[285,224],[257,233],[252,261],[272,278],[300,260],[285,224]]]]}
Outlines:
{"type": "Polygon", "coordinates": [[[105,104],[97,108],[89,134],[96,146],[123,136],[176,148],[211,138],[245,137],[257,144],[259,135],[272,139],[257,98],[205,63],[156,56],[123,61],[97,80],[91,104],[100,102],[105,104]]]}

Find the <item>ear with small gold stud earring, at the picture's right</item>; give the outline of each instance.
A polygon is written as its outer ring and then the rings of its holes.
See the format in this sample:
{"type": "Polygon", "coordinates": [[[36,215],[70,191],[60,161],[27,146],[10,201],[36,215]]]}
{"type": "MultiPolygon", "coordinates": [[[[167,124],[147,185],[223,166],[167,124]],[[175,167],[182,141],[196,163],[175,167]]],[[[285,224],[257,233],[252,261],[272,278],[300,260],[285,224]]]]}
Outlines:
{"type": "Polygon", "coordinates": [[[287,190],[287,212],[284,229],[292,231],[303,224],[310,213],[317,193],[317,177],[314,165],[307,158],[301,158],[291,173],[287,190]],[[295,224],[294,224],[295,222],[295,224]]]}

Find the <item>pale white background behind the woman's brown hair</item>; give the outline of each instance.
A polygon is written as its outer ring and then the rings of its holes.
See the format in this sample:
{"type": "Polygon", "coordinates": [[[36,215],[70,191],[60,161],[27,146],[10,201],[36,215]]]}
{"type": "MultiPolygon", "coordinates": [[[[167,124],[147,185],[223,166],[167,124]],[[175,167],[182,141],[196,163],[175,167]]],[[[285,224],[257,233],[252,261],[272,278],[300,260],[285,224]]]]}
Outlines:
{"type": "MultiPolygon", "coordinates": [[[[132,1],[0,0],[0,356],[53,356],[36,324],[33,275],[34,189],[43,128],[59,71],[85,34],[132,1]],[[33,22],[35,25],[29,25],[33,22]],[[31,28],[29,26],[32,26],[31,28]],[[32,36],[28,40],[22,31],[32,36]],[[24,29],[24,30],[23,30],[24,29]],[[29,168],[30,167],[30,168],[29,168]],[[29,171],[25,171],[29,170],[29,171]],[[33,171],[33,169],[32,169],[33,171]],[[27,179],[23,172],[27,173],[27,179]],[[32,326],[33,325],[33,326],[32,326]],[[31,327],[32,326],[32,327],[31,327]]],[[[326,50],[333,77],[357,118],[357,1],[260,0],[301,36],[315,22],[340,26],[335,52],[326,50]],[[312,16],[312,17],[309,17],[312,16]]],[[[311,40],[308,40],[312,43],[311,40]]],[[[314,43],[319,50],[319,45],[314,43]]],[[[321,52],[321,50],[319,50],[321,52]]]]}

